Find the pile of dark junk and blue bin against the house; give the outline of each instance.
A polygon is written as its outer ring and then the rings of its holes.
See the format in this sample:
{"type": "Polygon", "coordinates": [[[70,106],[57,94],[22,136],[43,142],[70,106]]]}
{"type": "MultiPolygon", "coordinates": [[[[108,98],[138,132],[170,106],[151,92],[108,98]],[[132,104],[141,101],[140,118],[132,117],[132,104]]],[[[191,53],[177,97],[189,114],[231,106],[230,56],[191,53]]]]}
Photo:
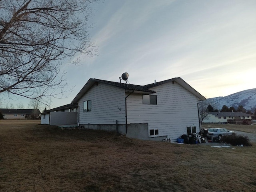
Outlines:
{"type": "Polygon", "coordinates": [[[202,132],[196,133],[196,129],[187,128],[188,134],[183,134],[178,138],[178,143],[186,144],[198,144],[206,142],[207,129],[203,129],[202,132]]]}

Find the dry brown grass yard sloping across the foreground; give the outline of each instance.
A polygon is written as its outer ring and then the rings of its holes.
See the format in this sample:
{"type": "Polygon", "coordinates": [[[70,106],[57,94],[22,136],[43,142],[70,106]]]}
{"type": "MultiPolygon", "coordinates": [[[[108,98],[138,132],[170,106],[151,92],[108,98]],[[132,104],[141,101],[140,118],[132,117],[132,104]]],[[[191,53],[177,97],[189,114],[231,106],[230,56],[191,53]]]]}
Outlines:
{"type": "Polygon", "coordinates": [[[0,191],[256,191],[252,147],[142,141],[0,120],[0,191]]]}

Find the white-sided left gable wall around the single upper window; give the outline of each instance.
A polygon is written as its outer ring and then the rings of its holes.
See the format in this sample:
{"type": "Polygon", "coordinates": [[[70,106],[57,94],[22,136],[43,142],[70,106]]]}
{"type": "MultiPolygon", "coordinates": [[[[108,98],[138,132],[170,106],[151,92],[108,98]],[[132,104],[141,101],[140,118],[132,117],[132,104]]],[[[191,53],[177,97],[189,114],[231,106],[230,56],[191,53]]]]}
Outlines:
{"type": "Polygon", "coordinates": [[[104,83],[94,84],[78,101],[79,123],[125,124],[124,89],[104,83]],[[83,112],[84,101],[92,101],[92,110],[83,112]]]}

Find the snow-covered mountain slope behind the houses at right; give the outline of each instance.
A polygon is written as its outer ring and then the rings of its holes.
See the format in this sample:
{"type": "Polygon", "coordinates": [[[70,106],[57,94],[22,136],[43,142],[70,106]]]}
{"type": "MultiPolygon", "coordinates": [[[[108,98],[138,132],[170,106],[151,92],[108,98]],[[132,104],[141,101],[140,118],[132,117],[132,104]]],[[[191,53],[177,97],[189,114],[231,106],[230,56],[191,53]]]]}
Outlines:
{"type": "Polygon", "coordinates": [[[225,97],[214,97],[206,100],[214,109],[222,109],[223,105],[237,109],[239,105],[252,112],[256,108],[256,88],[240,91],[225,97]]]}

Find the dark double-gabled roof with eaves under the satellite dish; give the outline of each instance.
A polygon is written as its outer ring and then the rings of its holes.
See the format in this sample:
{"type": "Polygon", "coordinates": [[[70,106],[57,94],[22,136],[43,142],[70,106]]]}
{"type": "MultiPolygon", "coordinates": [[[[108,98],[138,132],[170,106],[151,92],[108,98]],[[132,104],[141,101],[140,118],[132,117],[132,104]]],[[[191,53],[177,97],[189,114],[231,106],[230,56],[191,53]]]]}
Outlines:
{"type": "Polygon", "coordinates": [[[125,89],[127,92],[135,92],[135,93],[140,93],[140,94],[152,94],[156,93],[153,90],[149,90],[149,88],[153,88],[155,86],[159,86],[168,82],[177,82],[181,86],[183,86],[185,89],[187,89],[189,92],[197,96],[200,100],[206,100],[204,96],[202,96],[200,93],[198,93],[194,88],[192,88],[189,84],[187,84],[182,78],[172,78],[168,80],[164,80],[161,82],[156,82],[152,84],[147,84],[147,85],[134,85],[134,84],[125,84],[125,83],[119,83],[119,82],[113,82],[113,81],[106,81],[106,80],[100,80],[100,79],[93,79],[90,78],[88,82],[84,85],[84,87],[80,90],[80,92],[76,95],[76,97],[72,100],[71,103],[76,103],[78,100],[90,89],[90,87],[96,83],[96,82],[102,82],[105,84],[109,84],[112,86],[116,86],[119,88],[125,89]]]}

